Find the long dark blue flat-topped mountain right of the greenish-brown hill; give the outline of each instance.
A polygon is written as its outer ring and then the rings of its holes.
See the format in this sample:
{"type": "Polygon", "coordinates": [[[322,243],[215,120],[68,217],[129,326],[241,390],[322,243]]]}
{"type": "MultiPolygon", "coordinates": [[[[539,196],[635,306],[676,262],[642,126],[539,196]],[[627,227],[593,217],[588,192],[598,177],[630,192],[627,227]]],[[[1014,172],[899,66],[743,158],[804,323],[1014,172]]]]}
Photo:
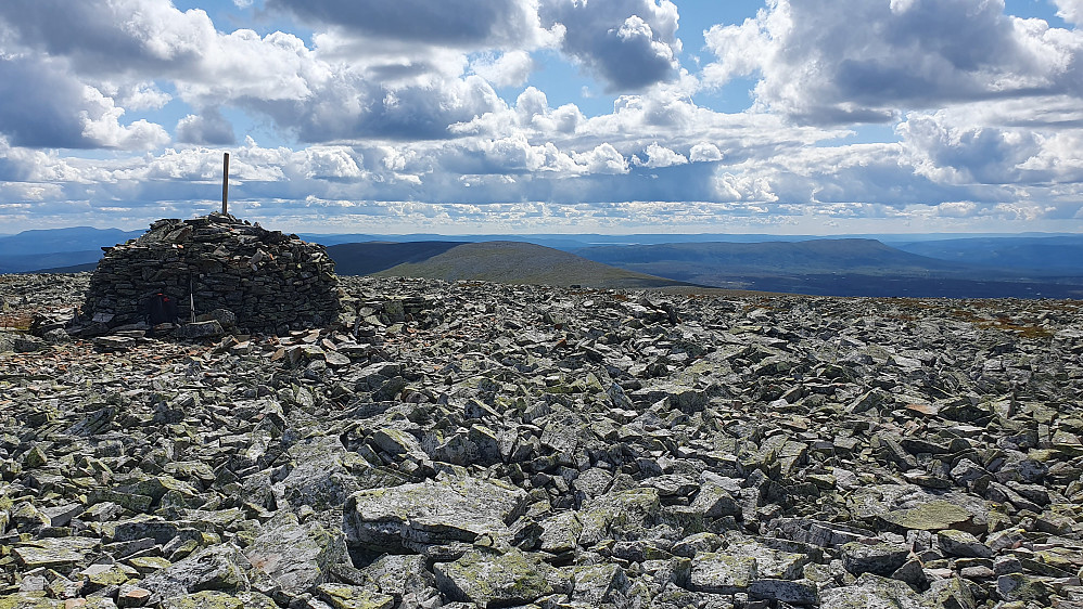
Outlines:
{"type": "Polygon", "coordinates": [[[919,256],[874,239],[590,247],[621,269],[729,289],[821,296],[1083,298],[1083,272],[1042,276],[919,256]]]}

